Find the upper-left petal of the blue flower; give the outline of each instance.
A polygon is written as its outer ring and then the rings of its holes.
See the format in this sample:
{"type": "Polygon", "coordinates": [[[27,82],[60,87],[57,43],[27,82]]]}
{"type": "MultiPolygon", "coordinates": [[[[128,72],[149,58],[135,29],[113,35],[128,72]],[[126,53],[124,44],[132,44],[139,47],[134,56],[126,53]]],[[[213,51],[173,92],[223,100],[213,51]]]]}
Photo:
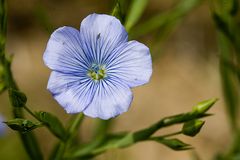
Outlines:
{"type": "Polygon", "coordinates": [[[72,27],[55,30],[43,55],[45,64],[50,69],[63,73],[86,70],[90,65],[89,57],[82,51],[79,37],[79,31],[72,27]]]}

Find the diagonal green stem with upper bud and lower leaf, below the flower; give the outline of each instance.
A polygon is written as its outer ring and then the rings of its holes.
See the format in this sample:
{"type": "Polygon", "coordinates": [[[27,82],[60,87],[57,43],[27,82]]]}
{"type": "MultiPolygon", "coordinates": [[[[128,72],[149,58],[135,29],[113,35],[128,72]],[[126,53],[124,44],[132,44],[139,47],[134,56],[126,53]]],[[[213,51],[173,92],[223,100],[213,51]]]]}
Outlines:
{"type": "MultiPolygon", "coordinates": [[[[94,157],[98,154],[101,154],[109,149],[113,148],[125,148],[129,147],[137,142],[141,141],[148,141],[148,140],[158,140],[160,142],[160,139],[164,145],[167,145],[170,148],[174,148],[175,150],[181,150],[181,149],[190,149],[191,147],[185,143],[181,143],[180,140],[176,139],[165,139],[164,136],[161,137],[151,137],[156,131],[159,129],[162,129],[164,127],[168,127],[174,124],[181,124],[185,122],[191,122],[193,120],[197,120],[199,118],[203,118],[206,116],[209,116],[209,114],[206,114],[208,109],[210,109],[213,104],[217,101],[217,99],[210,99],[203,102],[198,103],[194,108],[193,111],[182,113],[170,117],[166,117],[158,121],[157,123],[154,123],[150,127],[147,127],[145,129],[133,132],[133,133],[123,133],[118,135],[108,135],[105,137],[104,141],[102,143],[99,143],[98,145],[95,145],[92,148],[88,148],[89,144],[86,145],[86,147],[76,147],[73,148],[69,153],[66,154],[66,158],[86,158],[86,157],[94,157]],[[182,147],[181,147],[182,146],[182,147]]],[[[198,125],[199,126],[199,125],[198,125]]],[[[196,132],[196,128],[192,128],[192,132],[196,132]]],[[[198,127],[200,130],[201,127],[198,127]]]]}

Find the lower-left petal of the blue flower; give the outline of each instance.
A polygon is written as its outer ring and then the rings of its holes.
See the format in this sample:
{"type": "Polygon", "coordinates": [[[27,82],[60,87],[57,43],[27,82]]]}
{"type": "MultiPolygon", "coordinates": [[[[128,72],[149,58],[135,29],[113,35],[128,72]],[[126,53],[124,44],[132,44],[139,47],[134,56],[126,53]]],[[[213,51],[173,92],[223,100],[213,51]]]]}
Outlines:
{"type": "Polygon", "coordinates": [[[82,112],[96,90],[90,79],[56,71],[51,73],[47,88],[67,113],[82,112]]]}

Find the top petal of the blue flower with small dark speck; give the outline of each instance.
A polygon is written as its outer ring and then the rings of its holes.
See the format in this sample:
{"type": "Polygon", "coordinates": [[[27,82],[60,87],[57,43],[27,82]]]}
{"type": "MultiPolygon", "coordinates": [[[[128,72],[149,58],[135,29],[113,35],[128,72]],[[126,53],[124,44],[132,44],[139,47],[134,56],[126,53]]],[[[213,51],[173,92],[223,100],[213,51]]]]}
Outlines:
{"type": "Polygon", "coordinates": [[[128,40],[128,34],[117,18],[95,13],[82,21],[80,36],[84,52],[98,64],[102,64],[106,55],[128,40]]]}

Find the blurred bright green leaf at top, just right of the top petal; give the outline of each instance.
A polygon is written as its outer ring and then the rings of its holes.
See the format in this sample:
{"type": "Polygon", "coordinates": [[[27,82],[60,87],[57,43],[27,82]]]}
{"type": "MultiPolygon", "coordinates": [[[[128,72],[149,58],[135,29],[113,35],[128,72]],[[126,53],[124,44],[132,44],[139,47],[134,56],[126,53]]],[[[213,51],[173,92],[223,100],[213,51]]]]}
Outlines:
{"type": "Polygon", "coordinates": [[[139,18],[144,12],[144,9],[146,8],[148,3],[148,0],[133,0],[131,7],[129,9],[125,27],[127,31],[130,31],[130,29],[137,23],[139,18]]]}

